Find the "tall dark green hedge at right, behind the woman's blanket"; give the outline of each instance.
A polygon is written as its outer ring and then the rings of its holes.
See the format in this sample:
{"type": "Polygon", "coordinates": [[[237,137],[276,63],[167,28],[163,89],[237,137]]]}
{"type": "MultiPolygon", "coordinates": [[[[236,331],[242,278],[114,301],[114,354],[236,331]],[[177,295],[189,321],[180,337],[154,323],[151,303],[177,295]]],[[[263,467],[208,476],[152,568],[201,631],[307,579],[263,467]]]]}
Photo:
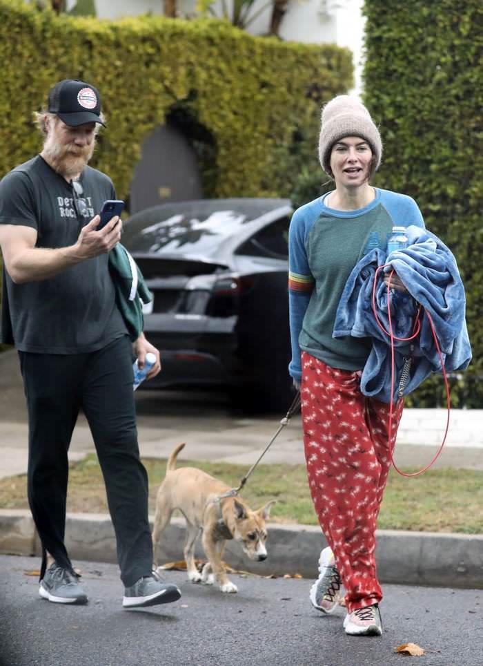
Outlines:
{"type": "MultiPolygon", "coordinates": [[[[377,184],[413,196],[457,258],[473,361],[453,402],[482,408],[483,3],[366,0],[364,12],[365,102],[384,141],[377,184]]],[[[444,404],[440,377],[414,400],[444,404]]]]}

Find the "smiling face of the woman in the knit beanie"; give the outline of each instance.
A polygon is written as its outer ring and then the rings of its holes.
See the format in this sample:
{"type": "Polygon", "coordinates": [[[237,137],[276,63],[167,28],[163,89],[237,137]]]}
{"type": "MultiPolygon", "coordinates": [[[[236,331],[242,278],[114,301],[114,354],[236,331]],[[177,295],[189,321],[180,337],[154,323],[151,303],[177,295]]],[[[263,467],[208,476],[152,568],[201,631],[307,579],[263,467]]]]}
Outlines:
{"type": "Polygon", "coordinates": [[[359,187],[369,180],[373,151],[361,137],[348,136],[332,146],[331,169],[336,185],[359,187]]]}

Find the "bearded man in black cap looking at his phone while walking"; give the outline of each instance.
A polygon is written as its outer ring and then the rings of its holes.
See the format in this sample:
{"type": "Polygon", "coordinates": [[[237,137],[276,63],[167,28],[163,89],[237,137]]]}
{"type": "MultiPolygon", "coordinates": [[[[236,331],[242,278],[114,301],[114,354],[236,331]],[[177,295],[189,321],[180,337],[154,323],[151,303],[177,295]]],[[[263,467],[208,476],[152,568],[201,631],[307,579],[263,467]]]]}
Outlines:
{"type": "Polygon", "coordinates": [[[143,334],[133,345],[115,303],[108,252],[121,238],[113,217],[97,230],[111,180],[88,167],[101,101],[94,86],[63,80],[37,114],[42,152],[0,182],[3,253],[1,339],[19,351],[29,419],[28,499],[43,551],[39,594],[58,603],[87,596],[64,545],[68,447],[79,409],[88,419],[117,538],[123,607],[179,599],[152,573],[148,477],[139,459],[132,352],[159,352],[143,334]]]}

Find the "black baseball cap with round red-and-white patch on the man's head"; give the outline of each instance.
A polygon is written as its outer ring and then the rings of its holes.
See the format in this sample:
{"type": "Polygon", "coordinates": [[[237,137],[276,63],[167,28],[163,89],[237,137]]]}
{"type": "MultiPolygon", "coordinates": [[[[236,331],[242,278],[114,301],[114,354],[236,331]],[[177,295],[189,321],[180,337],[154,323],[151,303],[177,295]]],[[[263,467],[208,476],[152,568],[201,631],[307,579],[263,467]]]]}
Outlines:
{"type": "Polygon", "coordinates": [[[85,122],[99,122],[101,97],[99,91],[78,79],[63,79],[48,94],[48,111],[59,116],[66,125],[76,127],[85,122]]]}

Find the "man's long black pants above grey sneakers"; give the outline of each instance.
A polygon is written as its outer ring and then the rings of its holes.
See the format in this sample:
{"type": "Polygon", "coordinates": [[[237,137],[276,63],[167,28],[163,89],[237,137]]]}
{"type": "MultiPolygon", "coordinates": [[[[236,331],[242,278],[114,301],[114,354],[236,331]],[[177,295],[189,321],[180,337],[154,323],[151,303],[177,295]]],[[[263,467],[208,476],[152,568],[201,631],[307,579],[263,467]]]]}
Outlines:
{"type": "Polygon", "coordinates": [[[67,452],[82,408],[106,484],[126,587],[152,569],[148,475],[139,459],[132,347],[121,337],[97,352],[19,352],[29,420],[28,500],[43,546],[71,568],[64,535],[67,452]]]}

